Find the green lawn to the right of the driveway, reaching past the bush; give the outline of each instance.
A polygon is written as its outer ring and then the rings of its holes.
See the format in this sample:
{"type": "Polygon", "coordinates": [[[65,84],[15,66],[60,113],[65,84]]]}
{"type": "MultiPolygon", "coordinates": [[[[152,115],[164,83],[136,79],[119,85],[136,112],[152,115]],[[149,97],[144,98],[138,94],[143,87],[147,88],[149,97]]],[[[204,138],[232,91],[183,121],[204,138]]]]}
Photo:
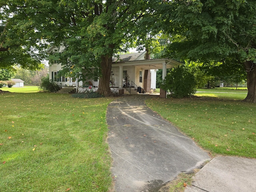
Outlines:
{"type": "Polygon", "coordinates": [[[256,158],[256,104],[242,102],[246,94],[196,95],[184,99],[152,98],[146,104],[213,156],[256,158]]]}

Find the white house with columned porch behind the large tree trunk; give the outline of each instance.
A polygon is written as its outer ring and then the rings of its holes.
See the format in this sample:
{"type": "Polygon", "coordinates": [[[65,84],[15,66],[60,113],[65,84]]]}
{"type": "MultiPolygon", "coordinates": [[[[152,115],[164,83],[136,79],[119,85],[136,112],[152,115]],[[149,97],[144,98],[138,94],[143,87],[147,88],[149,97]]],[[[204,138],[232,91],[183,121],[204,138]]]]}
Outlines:
{"type": "MultiPolygon", "coordinates": [[[[49,48],[47,50],[48,54],[53,50],[54,48],[49,48]]],[[[158,69],[163,69],[163,78],[165,78],[166,69],[178,65],[180,65],[179,62],[169,58],[150,59],[147,51],[118,55],[118,57],[113,57],[112,59],[110,87],[119,89],[127,86],[135,89],[139,87],[143,88],[145,92],[149,92],[151,89],[156,88],[156,71],[158,69]]],[[[84,86],[98,87],[98,77],[87,80],[87,83],[78,82],[69,77],[58,78],[58,71],[61,68],[62,66],[59,63],[49,65],[50,80],[60,83],[62,86],[76,87],[78,92],[84,86]]]]}

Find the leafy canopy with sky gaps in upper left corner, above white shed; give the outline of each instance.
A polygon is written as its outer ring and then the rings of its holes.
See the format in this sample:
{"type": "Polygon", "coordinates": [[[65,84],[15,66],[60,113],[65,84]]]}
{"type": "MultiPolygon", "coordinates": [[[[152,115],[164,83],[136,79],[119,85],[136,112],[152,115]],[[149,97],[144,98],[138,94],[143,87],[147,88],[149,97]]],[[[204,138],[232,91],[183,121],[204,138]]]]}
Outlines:
{"type": "Polygon", "coordinates": [[[1,68],[19,64],[35,70],[41,68],[41,60],[46,56],[40,50],[47,44],[43,43],[42,35],[36,31],[35,23],[23,12],[24,7],[22,1],[0,0],[1,68]]]}

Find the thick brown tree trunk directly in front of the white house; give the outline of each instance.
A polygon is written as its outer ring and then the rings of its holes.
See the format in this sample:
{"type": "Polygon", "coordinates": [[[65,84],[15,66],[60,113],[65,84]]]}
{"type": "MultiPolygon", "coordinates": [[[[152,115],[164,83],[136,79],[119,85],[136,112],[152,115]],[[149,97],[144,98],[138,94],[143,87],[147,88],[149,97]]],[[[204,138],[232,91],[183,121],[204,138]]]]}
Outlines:
{"type": "Polygon", "coordinates": [[[100,65],[102,76],[100,76],[99,80],[98,93],[104,96],[111,96],[112,92],[110,90],[109,82],[112,67],[112,57],[108,55],[101,56],[100,65]]]}

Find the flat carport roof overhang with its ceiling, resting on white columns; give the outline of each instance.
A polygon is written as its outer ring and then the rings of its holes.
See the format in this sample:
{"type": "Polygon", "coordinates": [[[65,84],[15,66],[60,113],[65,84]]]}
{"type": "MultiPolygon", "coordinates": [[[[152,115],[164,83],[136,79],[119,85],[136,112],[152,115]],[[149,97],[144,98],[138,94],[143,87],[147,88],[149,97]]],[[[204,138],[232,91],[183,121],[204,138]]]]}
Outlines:
{"type": "Polygon", "coordinates": [[[162,69],[163,64],[167,64],[166,68],[172,68],[180,65],[181,63],[172,59],[148,59],[148,60],[137,60],[137,61],[128,61],[128,62],[116,62],[116,63],[112,63],[112,67],[137,66],[144,70],[149,70],[149,69],[162,69]]]}

